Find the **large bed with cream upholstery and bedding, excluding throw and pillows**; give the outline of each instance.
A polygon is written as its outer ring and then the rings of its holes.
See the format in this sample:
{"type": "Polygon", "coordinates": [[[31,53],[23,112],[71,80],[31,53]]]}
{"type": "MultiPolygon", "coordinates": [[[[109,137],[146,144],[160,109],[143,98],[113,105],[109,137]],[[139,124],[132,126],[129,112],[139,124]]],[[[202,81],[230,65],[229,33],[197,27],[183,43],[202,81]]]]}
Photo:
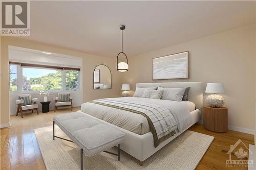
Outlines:
{"type": "MultiPolygon", "coordinates": [[[[147,119],[140,114],[131,114],[129,110],[120,110],[111,108],[108,105],[99,105],[94,102],[82,104],[81,111],[89,114],[92,118],[102,123],[113,126],[126,134],[125,141],[121,143],[120,148],[126,153],[132,155],[143,163],[148,157],[160,150],[168,142],[175,139],[182,132],[194,125],[201,118],[203,89],[201,82],[175,82],[175,83],[137,83],[136,87],[190,87],[188,96],[189,101],[167,101],[159,99],[145,98],[114,98],[107,101],[125,101],[139,103],[143,102],[150,105],[157,104],[168,108],[174,115],[177,127],[173,129],[173,135],[167,139],[156,141],[155,133],[152,133],[147,119]]],[[[104,101],[104,99],[103,99],[104,101]]]]}

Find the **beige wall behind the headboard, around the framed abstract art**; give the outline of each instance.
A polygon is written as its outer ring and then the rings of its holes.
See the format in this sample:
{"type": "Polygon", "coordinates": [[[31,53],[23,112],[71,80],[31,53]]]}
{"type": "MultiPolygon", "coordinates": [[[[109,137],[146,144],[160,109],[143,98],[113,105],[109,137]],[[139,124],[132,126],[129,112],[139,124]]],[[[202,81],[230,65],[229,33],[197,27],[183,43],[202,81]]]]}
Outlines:
{"type": "MultiPolygon", "coordinates": [[[[228,125],[254,129],[255,113],[255,41],[254,25],[187,41],[129,59],[129,71],[123,84],[144,82],[223,82],[228,107],[228,125]],[[151,59],[189,51],[189,79],[152,81],[151,59]]],[[[205,99],[206,94],[204,94],[205,99]]],[[[205,101],[205,100],[204,100],[205,101]]]]}

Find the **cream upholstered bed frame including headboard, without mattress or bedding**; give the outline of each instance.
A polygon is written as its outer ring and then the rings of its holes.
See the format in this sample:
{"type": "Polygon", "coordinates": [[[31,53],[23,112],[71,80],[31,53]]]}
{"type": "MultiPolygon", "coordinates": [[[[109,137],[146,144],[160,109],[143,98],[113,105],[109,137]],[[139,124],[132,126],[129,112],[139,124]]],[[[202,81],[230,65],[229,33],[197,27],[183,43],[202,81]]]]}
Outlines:
{"type": "MultiPolygon", "coordinates": [[[[132,155],[140,162],[140,165],[143,164],[143,161],[146,160],[148,157],[156,153],[158,150],[163,148],[167,143],[175,139],[181,133],[186,131],[189,127],[197,123],[201,118],[201,108],[203,107],[203,86],[202,82],[175,82],[175,83],[137,83],[136,87],[190,87],[188,98],[189,101],[196,104],[196,110],[190,112],[191,114],[191,124],[185,128],[182,132],[176,133],[174,136],[166,139],[165,141],[161,142],[157,148],[154,147],[154,139],[152,132],[148,132],[144,135],[138,135],[136,133],[127,131],[123,128],[117,127],[110,123],[105,122],[104,120],[95,118],[102,123],[108,124],[113,126],[123,133],[125,133],[125,140],[123,143],[120,144],[120,148],[125,151],[126,153],[132,155]]],[[[79,111],[78,111],[79,112],[79,111]]],[[[80,111],[81,112],[81,111],[80,111]]]]}

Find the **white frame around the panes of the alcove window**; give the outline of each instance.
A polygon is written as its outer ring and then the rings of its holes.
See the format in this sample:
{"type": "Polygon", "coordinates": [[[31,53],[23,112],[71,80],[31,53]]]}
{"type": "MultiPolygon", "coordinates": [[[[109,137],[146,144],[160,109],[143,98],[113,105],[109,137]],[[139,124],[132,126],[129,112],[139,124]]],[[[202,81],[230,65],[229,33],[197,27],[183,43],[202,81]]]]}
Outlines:
{"type": "MultiPolygon", "coordinates": [[[[9,63],[9,80],[10,80],[10,65],[15,65],[12,63],[9,63]]],[[[33,67],[33,66],[24,66],[26,68],[39,68],[39,69],[54,69],[54,68],[44,68],[44,67],[33,67]]],[[[58,93],[58,92],[72,92],[72,93],[79,93],[81,92],[81,71],[78,71],[78,89],[77,90],[66,90],[66,70],[69,69],[61,69],[61,90],[49,90],[50,93],[58,93]]],[[[31,94],[37,94],[39,93],[40,90],[35,90],[35,91],[26,91],[23,90],[23,67],[17,64],[17,90],[16,91],[10,91],[10,82],[9,82],[9,93],[11,95],[15,95],[17,93],[31,93],[31,94]]]]}

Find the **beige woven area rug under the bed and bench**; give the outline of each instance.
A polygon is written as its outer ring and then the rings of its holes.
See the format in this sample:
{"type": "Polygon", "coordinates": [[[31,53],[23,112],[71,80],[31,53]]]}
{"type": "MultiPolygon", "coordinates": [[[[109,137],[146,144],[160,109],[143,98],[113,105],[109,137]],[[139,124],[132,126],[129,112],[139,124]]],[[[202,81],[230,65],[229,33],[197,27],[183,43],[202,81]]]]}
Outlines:
{"type": "MultiPolygon", "coordinates": [[[[80,149],[76,144],[53,140],[52,126],[35,129],[35,134],[47,169],[80,169],[80,149]]],[[[55,135],[68,138],[57,125],[55,135]]],[[[117,156],[104,152],[90,158],[84,156],[83,169],[195,169],[212,140],[213,136],[187,130],[146,159],[143,166],[121,151],[120,161],[117,156]]],[[[117,148],[109,151],[117,152],[117,148]]]]}

